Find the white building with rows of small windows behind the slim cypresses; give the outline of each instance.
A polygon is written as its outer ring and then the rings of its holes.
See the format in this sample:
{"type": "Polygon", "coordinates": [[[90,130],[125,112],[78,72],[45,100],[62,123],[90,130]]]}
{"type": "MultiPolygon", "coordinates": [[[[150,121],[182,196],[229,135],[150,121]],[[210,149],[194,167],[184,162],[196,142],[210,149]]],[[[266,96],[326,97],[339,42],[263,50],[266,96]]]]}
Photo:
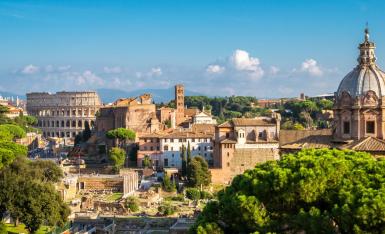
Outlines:
{"type": "Polygon", "coordinates": [[[190,144],[191,156],[202,156],[210,164],[213,163],[213,135],[195,132],[174,132],[161,137],[163,167],[182,167],[182,146],[190,144]]]}

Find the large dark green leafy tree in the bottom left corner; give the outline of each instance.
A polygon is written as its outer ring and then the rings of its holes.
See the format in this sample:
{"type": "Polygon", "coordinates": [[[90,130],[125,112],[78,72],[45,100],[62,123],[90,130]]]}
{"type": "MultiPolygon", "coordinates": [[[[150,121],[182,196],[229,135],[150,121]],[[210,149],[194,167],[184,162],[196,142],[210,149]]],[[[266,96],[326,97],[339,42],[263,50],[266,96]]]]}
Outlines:
{"type": "Polygon", "coordinates": [[[62,176],[53,162],[18,157],[0,171],[0,213],[8,211],[30,233],[42,224],[62,226],[70,211],[53,185],[62,176]]]}

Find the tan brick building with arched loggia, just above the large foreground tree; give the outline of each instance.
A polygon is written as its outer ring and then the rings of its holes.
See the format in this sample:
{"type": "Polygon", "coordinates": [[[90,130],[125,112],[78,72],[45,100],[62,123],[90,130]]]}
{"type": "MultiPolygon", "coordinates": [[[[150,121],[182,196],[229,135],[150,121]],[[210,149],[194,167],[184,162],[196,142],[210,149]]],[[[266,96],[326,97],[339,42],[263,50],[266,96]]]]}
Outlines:
{"type": "Polygon", "coordinates": [[[234,118],[215,128],[214,183],[228,183],[257,163],[279,159],[280,116],[234,118]]]}

